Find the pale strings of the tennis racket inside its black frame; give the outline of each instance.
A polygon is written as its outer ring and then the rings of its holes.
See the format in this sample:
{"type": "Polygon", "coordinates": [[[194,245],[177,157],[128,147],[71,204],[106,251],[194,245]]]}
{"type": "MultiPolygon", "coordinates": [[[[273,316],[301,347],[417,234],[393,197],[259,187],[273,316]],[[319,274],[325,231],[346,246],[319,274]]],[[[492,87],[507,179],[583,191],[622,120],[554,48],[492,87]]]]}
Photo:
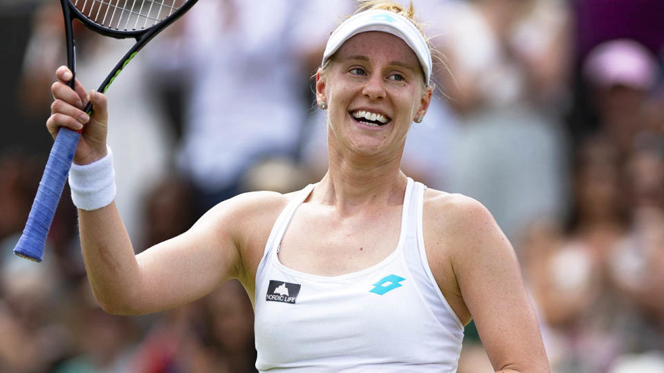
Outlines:
{"type": "Polygon", "coordinates": [[[172,15],[185,0],[70,0],[87,19],[114,30],[152,27],[172,15]]]}

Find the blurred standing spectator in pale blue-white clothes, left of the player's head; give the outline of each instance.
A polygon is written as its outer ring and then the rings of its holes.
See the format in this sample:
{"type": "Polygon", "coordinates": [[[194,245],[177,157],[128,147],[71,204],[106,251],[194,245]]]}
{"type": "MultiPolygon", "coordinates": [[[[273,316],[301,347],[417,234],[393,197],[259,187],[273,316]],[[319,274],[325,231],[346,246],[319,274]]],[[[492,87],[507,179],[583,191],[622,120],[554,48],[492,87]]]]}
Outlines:
{"type": "Polygon", "coordinates": [[[320,60],[333,29],[329,15],[345,5],[201,2],[183,19],[186,43],[160,50],[171,54],[160,57],[170,61],[170,73],[186,77],[176,162],[192,182],[197,213],[239,193],[243,175],[257,162],[295,158],[311,104],[306,99],[313,98],[302,72],[313,73],[311,61],[320,60]]]}

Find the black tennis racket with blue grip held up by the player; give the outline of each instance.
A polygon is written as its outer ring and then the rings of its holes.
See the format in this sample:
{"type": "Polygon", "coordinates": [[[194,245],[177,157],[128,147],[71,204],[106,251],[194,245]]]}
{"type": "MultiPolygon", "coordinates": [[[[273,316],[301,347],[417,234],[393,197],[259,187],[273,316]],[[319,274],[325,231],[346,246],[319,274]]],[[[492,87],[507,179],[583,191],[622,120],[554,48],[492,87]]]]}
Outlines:
{"type": "MultiPolygon", "coordinates": [[[[190,10],[196,1],[198,0],[60,0],[64,15],[67,66],[74,75],[68,83],[69,86],[74,88],[76,74],[76,48],[72,27],[74,19],[108,37],[136,39],[136,44],[124,54],[99,86],[98,91],[105,93],[136,53],[155,35],[190,10]]],[[[84,111],[92,114],[93,107],[90,102],[84,111]]],[[[26,228],[14,248],[14,254],[35,262],[42,261],[50,223],[53,222],[82,131],[71,131],[64,127],[59,129],[50,149],[26,228]]]]}

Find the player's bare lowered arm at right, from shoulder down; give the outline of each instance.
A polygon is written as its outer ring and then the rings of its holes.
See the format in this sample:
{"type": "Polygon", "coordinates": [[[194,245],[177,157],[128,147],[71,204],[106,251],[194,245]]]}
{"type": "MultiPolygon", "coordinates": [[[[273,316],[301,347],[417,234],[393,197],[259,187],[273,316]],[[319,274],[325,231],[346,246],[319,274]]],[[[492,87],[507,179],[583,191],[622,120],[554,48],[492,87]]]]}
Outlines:
{"type": "Polygon", "coordinates": [[[468,316],[474,319],[494,369],[549,372],[519,262],[490,212],[458,194],[433,198],[429,207],[429,213],[425,208],[428,225],[443,238],[430,240],[434,245],[427,246],[434,277],[461,321],[470,321],[468,316]],[[454,294],[460,300],[456,305],[454,294]]]}

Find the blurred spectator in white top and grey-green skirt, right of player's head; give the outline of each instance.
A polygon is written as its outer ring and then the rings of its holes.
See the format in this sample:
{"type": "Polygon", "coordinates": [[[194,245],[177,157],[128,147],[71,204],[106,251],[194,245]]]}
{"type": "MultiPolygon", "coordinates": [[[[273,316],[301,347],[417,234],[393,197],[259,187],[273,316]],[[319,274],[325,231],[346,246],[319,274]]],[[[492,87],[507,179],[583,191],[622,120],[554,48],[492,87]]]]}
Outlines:
{"type": "Polygon", "coordinates": [[[447,1],[435,17],[450,68],[443,90],[461,124],[450,191],[486,204],[517,240],[564,205],[555,109],[566,95],[568,11],[560,1],[447,1]]]}

